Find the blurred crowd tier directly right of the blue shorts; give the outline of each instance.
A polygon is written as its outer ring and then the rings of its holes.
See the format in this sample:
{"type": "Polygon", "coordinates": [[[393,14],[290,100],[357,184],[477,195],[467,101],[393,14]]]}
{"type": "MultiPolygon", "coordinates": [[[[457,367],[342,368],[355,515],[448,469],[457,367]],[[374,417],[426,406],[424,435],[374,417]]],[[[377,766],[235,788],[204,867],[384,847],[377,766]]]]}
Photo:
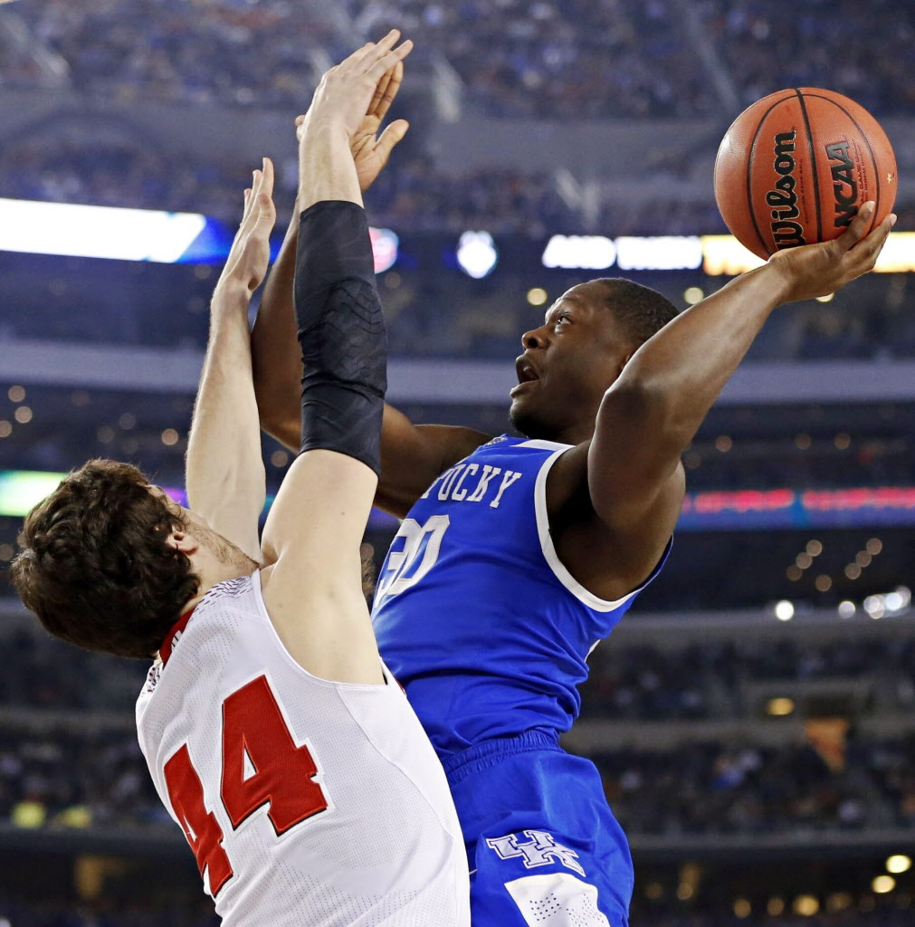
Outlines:
{"type": "Polygon", "coordinates": [[[689,743],[593,756],[630,834],[915,827],[915,737],[849,739],[831,767],[809,744],[689,743]]]}

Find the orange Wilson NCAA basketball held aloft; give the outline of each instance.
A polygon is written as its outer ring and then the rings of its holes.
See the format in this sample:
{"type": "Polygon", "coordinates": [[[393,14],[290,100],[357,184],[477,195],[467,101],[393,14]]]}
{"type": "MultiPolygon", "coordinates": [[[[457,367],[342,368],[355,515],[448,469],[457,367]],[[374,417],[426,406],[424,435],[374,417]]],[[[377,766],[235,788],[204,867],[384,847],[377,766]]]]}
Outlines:
{"type": "Polygon", "coordinates": [[[869,199],[873,228],[893,209],[896,185],[896,156],[880,123],[847,96],[815,87],[744,109],[715,160],[721,217],[763,259],[837,238],[869,199]]]}

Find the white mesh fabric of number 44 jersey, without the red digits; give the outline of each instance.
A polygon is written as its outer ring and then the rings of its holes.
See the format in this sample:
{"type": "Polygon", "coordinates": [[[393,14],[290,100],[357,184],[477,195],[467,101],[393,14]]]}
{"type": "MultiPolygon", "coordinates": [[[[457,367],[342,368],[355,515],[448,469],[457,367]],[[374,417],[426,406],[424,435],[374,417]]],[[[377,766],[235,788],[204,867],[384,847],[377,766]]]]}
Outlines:
{"type": "Polygon", "coordinates": [[[172,813],[163,768],[186,743],[234,876],[216,897],[225,927],[469,927],[460,825],[444,772],[400,687],[316,679],[286,653],[260,577],[222,583],[197,606],[136,707],[140,745],[172,813]],[[277,837],[262,807],[233,830],[220,796],[222,703],[266,675],[329,803],[277,837]]]}

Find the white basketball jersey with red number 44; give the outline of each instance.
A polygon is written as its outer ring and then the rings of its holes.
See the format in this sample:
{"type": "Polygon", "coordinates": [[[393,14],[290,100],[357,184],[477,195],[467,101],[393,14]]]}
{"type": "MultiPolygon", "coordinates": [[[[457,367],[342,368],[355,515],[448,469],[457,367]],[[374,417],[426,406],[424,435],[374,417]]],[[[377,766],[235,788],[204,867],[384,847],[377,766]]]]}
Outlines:
{"type": "Polygon", "coordinates": [[[224,927],[469,927],[464,840],[406,696],[317,679],[261,575],[184,616],[136,705],[140,746],[224,927]]]}

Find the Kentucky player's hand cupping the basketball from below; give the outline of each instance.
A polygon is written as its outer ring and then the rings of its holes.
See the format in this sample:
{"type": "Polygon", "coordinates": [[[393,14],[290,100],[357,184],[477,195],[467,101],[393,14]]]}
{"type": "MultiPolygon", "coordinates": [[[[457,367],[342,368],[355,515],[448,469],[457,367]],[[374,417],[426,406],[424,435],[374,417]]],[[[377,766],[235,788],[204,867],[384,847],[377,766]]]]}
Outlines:
{"type": "Polygon", "coordinates": [[[845,284],[873,270],[886,243],[896,215],[890,213],[870,235],[864,233],[875,209],[864,203],[843,235],[819,245],[785,248],[769,258],[769,264],[782,273],[788,286],[784,302],[828,296],[845,284]]]}

